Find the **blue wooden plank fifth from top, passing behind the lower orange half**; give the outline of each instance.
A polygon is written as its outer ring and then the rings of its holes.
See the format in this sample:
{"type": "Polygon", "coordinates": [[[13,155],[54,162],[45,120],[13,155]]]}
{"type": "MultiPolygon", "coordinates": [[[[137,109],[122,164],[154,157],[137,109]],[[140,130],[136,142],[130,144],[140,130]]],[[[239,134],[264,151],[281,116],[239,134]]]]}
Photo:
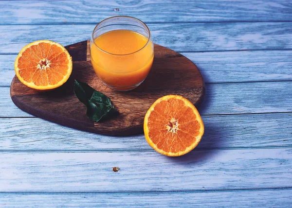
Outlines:
{"type": "MultiPolygon", "coordinates": [[[[292,114],[202,116],[197,149],[292,147],[292,114]]],[[[144,135],[109,137],[38,118],[0,118],[2,151],[152,150],[144,135]]]]}

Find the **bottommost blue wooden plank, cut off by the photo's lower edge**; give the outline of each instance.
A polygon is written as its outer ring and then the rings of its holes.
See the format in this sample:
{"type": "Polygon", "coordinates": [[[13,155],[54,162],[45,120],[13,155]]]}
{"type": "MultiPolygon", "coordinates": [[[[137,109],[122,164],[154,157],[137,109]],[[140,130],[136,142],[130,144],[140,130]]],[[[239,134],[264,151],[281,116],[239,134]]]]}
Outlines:
{"type": "Polygon", "coordinates": [[[289,208],[292,189],[123,192],[123,193],[0,193],[8,207],[256,207],[289,208]]]}

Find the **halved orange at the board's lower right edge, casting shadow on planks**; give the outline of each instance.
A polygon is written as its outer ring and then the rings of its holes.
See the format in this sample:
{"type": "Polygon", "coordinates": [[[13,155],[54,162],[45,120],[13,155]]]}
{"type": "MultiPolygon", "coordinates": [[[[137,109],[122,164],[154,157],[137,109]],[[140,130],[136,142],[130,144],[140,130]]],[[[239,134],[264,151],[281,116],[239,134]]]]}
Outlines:
{"type": "Polygon", "coordinates": [[[149,145],[166,156],[182,156],[193,150],[204,133],[197,108],[179,95],[166,95],[152,104],[144,119],[149,145]]]}

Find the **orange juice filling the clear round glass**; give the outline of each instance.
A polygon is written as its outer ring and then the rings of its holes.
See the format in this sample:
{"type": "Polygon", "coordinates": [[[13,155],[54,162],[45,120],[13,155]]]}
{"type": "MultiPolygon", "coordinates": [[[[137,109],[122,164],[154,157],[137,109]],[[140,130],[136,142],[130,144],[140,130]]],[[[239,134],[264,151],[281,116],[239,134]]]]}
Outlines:
{"type": "Polygon", "coordinates": [[[105,84],[128,90],[144,81],[153,63],[152,40],[134,31],[112,30],[95,38],[94,43],[91,63],[105,84]]]}

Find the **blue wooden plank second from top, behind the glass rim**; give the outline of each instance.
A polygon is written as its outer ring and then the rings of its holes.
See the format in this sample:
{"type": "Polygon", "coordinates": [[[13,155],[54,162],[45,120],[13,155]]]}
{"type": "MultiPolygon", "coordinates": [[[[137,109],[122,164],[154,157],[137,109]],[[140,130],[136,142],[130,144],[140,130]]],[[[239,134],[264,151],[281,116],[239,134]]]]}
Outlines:
{"type": "MultiPolygon", "coordinates": [[[[1,25],[0,53],[49,39],[66,46],[90,39],[93,24],[1,25]]],[[[148,24],[156,44],[177,52],[292,49],[292,22],[148,24]]]]}

